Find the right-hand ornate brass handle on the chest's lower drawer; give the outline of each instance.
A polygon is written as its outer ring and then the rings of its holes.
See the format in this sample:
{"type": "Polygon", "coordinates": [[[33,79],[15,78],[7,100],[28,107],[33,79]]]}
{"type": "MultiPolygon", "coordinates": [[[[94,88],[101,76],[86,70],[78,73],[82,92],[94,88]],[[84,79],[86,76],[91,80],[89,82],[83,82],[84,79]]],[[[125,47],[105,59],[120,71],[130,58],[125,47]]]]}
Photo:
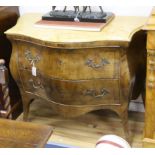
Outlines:
{"type": "Polygon", "coordinates": [[[95,97],[95,98],[104,97],[108,94],[109,94],[109,91],[106,90],[105,88],[102,88],[100,90],[100,94],[97,94],[97,91],[94,89],[88,89],[84,92],[84,95],[90,95],[90,96],[95,97]]]}

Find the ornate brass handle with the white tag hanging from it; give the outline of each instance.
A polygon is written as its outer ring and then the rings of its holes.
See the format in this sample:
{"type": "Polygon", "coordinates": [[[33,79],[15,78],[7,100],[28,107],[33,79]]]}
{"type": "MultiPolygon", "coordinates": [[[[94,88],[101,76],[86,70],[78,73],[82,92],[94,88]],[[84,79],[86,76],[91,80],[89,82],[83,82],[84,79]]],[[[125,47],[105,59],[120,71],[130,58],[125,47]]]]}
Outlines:
{"type": "Polygon", "coordinates": [[[31,64],[35,64],[40,61],[40,56],[32,56],[30,51],[25,52],[25,59],[27,59],[31,64]]]}

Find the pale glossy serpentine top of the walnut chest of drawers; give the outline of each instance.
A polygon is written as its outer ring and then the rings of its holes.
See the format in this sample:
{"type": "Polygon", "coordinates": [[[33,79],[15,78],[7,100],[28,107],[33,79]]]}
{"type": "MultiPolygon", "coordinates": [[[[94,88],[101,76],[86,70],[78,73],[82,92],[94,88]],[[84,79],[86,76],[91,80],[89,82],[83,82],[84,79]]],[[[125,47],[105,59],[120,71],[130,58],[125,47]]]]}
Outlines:
{"type": "Polygon", "coordinates": [[[27,37],[29,41],[55,48],[84,48],[103,45],[119,46],[127,44],[135,32],[146,22],[146,17],[117,16],[101,32],[70,31],[36,28],[34,24],[41,19],[42,14],[25,14],[17,25],[6,31],[14,39],[27,37]],[[38,33],[39,31],[39,33],[38,33]],[[48,35],[47,35],[48,34],[48,35]]]}

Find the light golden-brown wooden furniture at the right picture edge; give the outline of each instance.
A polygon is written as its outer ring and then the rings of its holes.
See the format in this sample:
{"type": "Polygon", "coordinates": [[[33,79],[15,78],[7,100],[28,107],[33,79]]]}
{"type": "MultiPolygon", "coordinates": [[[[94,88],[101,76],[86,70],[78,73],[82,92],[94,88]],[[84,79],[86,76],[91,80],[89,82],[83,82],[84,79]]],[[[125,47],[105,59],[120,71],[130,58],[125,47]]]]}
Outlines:
{"type": "Polygon", "coordinates": [[[155,147],[155,7],[146,25],[147,31],[147,74],[145,99],[145,125],[143,147],[155,147]]]}

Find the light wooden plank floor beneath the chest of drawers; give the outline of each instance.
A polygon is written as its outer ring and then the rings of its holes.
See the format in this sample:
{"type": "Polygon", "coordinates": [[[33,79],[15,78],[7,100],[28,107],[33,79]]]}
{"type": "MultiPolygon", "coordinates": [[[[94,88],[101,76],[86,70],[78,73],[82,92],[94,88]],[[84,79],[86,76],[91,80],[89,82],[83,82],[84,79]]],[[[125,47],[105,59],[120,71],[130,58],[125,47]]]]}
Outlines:
{"type": "MultiPolygon", "coordinates": [[[[18,117],[22,121],[22,115],[18,117]]],[[[97,140],[106,134],[115,134],[124,138],[119,117],[109,111],[100,110],[76,118],[62,118],[54,114],[48,104],[35,101],[31,104],[29,121],[53,126],[50,142],[76,147],[95,147],[97,140]]],[[[129,113],[131,146],[142,147],[144,113],[129,113]]]]}

